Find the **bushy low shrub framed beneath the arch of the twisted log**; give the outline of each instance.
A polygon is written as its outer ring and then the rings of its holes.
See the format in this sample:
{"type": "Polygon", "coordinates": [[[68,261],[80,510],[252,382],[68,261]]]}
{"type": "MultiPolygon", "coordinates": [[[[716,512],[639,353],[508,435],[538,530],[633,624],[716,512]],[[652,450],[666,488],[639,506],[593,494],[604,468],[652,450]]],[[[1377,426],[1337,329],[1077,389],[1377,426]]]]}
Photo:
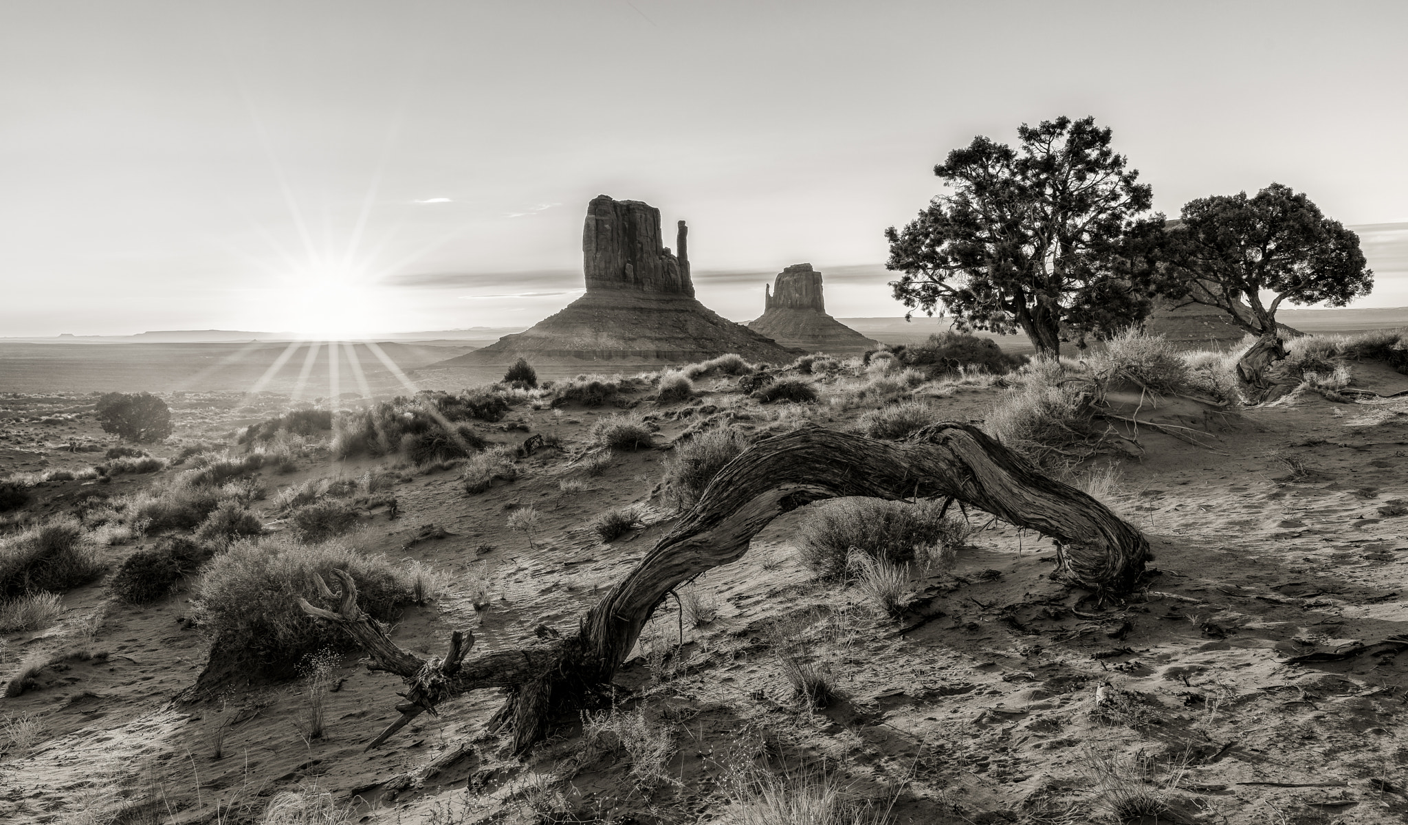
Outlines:
{"type": "Polygon", "coordinates": [[[891,565],[911,562],[922,548],[960,543],[969,535],[962,519],[941,512],[939,501],[826,501],[797,531],[798,559],[824,579],[846,572],[852,548],[891,565]]]}

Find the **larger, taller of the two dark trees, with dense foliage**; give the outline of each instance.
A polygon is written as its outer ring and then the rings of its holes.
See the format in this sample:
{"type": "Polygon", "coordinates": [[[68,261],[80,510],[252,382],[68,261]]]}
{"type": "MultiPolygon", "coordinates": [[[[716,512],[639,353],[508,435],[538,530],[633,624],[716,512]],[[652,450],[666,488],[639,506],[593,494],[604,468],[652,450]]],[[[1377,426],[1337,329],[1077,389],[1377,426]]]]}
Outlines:
{"type": "Polygon", "coordinates": [[[1059,117],[1024,124],[1017,149],[977,137],[949,152],[934,173],[950,191],[886,231],[894,297],[960,331],[1022,331],[1043,353],[1145,318],[1163,215],[1146,215],[1152,190],[1110,137],[1059,117]]]}

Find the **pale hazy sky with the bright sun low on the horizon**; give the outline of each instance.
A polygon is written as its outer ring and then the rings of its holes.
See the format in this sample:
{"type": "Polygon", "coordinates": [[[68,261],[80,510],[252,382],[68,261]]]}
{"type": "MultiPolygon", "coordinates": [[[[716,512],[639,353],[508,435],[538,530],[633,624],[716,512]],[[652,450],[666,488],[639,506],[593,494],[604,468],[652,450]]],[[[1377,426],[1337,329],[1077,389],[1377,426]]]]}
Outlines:
{"type": "Polygon", "coordinates": [[[1408,306],[1408,4],[15,0],[0,336],[532,324],[597,194],[690,225],[748,320],[810,262],[901,315],[884,228],[974,135],[1067,114],[1177,215],[1280,182],[1408,306]]]}

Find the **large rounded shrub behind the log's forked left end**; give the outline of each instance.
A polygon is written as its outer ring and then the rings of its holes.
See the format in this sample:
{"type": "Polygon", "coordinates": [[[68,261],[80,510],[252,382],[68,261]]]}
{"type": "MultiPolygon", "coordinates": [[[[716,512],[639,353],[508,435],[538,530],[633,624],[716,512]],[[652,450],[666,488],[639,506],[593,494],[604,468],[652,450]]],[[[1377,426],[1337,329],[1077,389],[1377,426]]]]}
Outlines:
{"type": "Polygon", "coordinates": [[[220,655],[269,676],[289,676],[304,656],[322,648],[351,649],[355,642],[345,632],[298,607],[298,598],[328,604],[313,576],[337,591],[334,569],[352,576],[358,605],[377,621],[390,622],[400,605],[411,603],[406,572],[384,556],[339,542],[306,545],[275,535],[235,542],[208,565],[196,584],[200,628],[220,655]]]}

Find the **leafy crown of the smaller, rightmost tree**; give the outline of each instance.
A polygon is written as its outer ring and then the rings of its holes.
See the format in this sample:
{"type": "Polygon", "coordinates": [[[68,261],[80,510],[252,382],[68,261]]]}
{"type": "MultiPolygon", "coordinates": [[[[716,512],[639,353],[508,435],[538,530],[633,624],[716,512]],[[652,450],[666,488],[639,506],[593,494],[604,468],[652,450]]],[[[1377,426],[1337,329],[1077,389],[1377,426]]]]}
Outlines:
{"type": "Polygon", "coordinates": [[[1343,307],[1374,287],[1359,235],[1280,183],[1188,201],[1167,259],[1173,297],[1218,307],[1262,336],[1274,334],[1281,301],[1343,307]]]}

